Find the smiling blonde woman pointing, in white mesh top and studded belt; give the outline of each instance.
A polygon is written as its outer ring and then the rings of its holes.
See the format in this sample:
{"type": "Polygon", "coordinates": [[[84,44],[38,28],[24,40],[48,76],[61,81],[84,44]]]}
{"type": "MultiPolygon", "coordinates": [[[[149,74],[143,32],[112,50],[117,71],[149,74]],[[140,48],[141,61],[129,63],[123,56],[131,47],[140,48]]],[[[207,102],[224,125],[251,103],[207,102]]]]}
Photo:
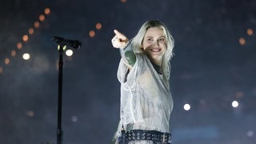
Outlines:
{"type": "Polygon", "coordinates": [[[114,30],[112,45],[120,49],[118,66],[121,83],[121,110],[114,143],[171,143],[170,58],[174,40],[158,20],[145,22],[129,41],[114,30]]]}

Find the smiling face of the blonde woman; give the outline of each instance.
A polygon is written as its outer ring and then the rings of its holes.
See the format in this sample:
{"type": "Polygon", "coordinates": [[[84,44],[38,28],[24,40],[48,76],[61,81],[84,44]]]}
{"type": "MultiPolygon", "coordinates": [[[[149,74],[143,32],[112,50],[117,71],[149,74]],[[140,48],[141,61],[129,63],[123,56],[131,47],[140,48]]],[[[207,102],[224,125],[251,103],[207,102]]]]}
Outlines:
{"type": "Polygon", "coordinates": [[[161,66],[162,55],[166,52],[166,37],[161,28],[150,27],[146,31],[142,41],[142,50],[152,62],[161,66]]]}

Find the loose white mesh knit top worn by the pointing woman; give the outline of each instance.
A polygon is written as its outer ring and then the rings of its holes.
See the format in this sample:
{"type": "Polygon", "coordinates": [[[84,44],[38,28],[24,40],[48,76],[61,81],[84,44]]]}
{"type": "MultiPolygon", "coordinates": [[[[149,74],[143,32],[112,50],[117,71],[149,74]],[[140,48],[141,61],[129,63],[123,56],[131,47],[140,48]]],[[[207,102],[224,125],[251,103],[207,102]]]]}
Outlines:
{"type": "Polygon", "coordinates": [[[126,130],[158,130],[170,133],[170,113],[173,99],[169,84],[144,54],[136,54],[136,62],[129,74],[126,62],[118,66],[118,81],[121,83],[120,122],[126,130]]]}

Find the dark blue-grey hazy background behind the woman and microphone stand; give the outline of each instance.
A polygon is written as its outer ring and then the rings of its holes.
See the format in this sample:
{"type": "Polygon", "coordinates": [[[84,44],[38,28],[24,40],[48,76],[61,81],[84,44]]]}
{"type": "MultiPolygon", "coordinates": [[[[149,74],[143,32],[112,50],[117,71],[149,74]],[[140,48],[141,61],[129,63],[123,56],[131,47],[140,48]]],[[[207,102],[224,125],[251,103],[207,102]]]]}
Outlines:
{"type": "Polygon", "coordinates": [[[73,49],[72,57],[64,56],[63,143],[110,143],[118,125],[120,88],[120,55],[110,42],[113,30],[132,38],[148,19],[165,22],[175,40],[170,78],[174,144],[256,143],[256,35],[247,34],[248,29],[256,31],[253,0],[2,0],[0,143],[56,143],[54,35],[83,44],[73,49]],[[50,14],[44,14],[46,7],[50,14]],[[42,22],[40,14],[46,16],[42,22]],[[40,26],[22,42],[35,21],[40,26]],[[23,60],[24,53],[31,58],[23,60]],[[189,111],[183,109],[185,103],[189,111]]]}

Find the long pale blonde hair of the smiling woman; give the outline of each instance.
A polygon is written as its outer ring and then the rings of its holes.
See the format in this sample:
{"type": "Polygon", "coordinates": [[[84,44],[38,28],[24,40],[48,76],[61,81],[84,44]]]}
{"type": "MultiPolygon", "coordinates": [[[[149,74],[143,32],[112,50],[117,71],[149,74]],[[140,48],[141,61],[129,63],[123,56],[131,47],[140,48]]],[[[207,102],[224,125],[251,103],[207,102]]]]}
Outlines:
{"type": "Polygon", "coordinates": [[[160,22],[159,20],[150,20],[146,21],[140,30],[138,30],[138,34],[132,39],[132,47],[135,54],[143,54],[143,50],[141,49],[142,42],[146,31],[151,27],[158,27],[163,30],[164,35],[166,36],[166,53],[163,55],[161,69],[163,73],[163,77],[166,81],[170,78],[170,58],[173,57],[173,49],[174,49],[174,38],[170,34],[167,27],[160,22]]]}

